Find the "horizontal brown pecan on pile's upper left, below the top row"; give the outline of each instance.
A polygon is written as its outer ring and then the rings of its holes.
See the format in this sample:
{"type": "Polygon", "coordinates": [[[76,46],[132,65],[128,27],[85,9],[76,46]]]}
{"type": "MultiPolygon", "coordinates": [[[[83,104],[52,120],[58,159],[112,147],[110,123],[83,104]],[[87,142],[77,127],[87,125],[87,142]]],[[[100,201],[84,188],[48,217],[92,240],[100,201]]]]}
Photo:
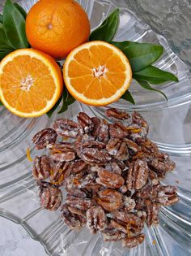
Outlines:
{"type": "Polygon", "coordinates": [[[70,143],[55,144],[50,152],[50,157],[57,162],[70,162],[75,159],[75,152],[70,143]]]}

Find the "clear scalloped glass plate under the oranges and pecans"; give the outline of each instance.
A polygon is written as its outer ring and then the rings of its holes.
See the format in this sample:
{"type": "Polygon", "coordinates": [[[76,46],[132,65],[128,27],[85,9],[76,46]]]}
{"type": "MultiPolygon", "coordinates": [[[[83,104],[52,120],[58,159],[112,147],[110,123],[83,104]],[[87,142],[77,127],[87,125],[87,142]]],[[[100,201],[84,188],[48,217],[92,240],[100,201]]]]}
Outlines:
{"type": "MultiPolygon", "coordinates": [[[[36,0],[17,2],[28,10],[36,0]]],[[[136,109],[148,120],[150,138],[176,162],[176,170],[168,174],[164,183],[178,187],[180,202],[175,206],[163,207],[159,214],[159,226],[149,229],[145,227],[146,241],[131,250],[122,249],[121,243],[104,243],[102,236],[91,235],[86,228],[80,232],[70,231],[60,219],[59,210],[53,213],[40,208],[37,188],[32,178],[32,163],[26,158],[28,147],[32,149],[32,157],[36,154],[31,144],[32,136],[41,128],[49,127],[57,118],[57,114],[55,113],[52,119],[48,119],[46,115],[38,119],[21,119],[0,107],[0,215],[21,224],[32,238],[40,241],[47,253],[53,256],[191,255],[189,2],[186,4],[185,0],[178,4],[176,1],[162,0],[159,8],[156,8],[156,0],[129,0],[128,3],[122,0],[79,2],[89,15],[91,28],[96,28],[114,8],[120,7],[121,20],[115,38],[117,41],[148,41],[160,43],[165,48],[156,66],[174,72],[180,80],[177,84],[168,83],[161,87],[168,95],[168,102],[156,93],[142,90],[134,82],[130,90],[137,105],[131,106],[120,100],[112,106],[126,111],[136,109]],[[141,19],[146,20],[147,24],[141,19]],[[162,35],[155,33],[150,25],[155,31],[168,36],[169,42],[162,35]]],[[[2,2],[0,11],[1,8],[2,2]]],[[[89,107],[75,102],[59,117],[75,119],[79,111],[100,117],[104,115],[103,107],[89,107]]]]}

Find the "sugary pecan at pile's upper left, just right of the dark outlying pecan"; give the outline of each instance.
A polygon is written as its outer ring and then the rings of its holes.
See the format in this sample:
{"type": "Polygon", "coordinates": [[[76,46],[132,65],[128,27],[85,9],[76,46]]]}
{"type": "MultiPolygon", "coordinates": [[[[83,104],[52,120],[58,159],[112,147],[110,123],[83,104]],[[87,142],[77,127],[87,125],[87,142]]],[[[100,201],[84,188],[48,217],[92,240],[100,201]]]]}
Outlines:
{"type": "Polygon", "coordinates": [[[79,124],[70,119],[57,119],[53,124],[53,128],[58,135],[63,137],[76,138],[80,132],[79,124]]]}

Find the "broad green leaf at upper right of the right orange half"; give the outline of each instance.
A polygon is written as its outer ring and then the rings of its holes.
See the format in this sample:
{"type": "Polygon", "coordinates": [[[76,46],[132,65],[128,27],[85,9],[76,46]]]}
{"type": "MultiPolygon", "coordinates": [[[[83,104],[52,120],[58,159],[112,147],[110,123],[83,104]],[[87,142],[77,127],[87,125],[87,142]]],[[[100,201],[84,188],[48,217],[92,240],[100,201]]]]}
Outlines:
{"type": "Polygon", "coordinates": [[[133,72],[138,72],[155,63],[163,54],[163,46],[134,41],[112,41],[129,59],[133,72]]]}

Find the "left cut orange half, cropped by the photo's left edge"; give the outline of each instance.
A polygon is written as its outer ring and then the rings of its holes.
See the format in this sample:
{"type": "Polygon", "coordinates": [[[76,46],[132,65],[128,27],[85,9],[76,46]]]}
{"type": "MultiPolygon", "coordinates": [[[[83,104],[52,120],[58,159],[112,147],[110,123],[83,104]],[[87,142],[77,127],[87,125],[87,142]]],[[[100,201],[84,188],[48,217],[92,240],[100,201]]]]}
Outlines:
{"type": "Polygon", "coordinates": [[[56,61],[38,50],[15,50],[0,63],[0,99],[15,115],[45,114],[62,89],[62,72],[56,61]]]}

